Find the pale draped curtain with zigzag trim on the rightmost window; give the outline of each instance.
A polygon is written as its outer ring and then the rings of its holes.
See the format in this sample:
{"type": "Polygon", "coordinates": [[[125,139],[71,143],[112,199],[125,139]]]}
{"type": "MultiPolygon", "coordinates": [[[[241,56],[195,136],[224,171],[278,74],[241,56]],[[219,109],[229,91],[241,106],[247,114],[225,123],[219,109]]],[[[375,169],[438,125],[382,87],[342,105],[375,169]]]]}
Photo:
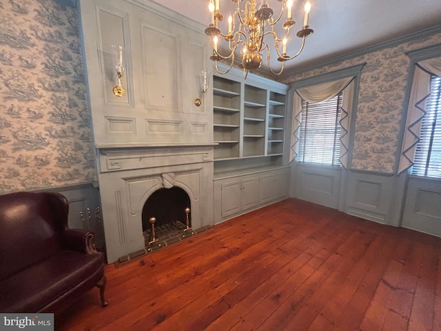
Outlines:
{"type": "Polygon", "coordinates": [[[419,61],[413,74],[406,126],[402,139],[402,152],[398,162],[398,174],[413,165],[416,144],[420,139],[421,119],[426,113],[425,102],[430,95],[431,75],[441,76],[441,57],[419,61]],[[424,70],[423,70],[424,69],[424,70]]]}

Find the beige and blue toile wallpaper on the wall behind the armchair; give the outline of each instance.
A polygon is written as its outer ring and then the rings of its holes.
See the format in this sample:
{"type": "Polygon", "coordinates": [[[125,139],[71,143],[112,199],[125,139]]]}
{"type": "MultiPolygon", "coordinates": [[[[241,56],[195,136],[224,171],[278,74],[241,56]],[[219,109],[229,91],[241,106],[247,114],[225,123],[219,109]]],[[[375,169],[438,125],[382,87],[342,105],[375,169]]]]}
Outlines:
{"type": "Polygon", "coordinates": [[[0,1],[0,193],[94,181],[76,8],[0,1]]]}

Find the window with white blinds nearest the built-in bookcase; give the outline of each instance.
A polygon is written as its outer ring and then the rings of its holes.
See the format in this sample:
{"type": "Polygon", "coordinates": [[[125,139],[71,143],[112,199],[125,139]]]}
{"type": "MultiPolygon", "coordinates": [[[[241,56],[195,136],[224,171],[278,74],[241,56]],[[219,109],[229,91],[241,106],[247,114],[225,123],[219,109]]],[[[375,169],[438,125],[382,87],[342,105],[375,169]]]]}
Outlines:
{"type": "Polygon", "coordinates": [[[343,92],[320,103],[302,100],[298,162],[340,164],[340,117],[343,92]]]}

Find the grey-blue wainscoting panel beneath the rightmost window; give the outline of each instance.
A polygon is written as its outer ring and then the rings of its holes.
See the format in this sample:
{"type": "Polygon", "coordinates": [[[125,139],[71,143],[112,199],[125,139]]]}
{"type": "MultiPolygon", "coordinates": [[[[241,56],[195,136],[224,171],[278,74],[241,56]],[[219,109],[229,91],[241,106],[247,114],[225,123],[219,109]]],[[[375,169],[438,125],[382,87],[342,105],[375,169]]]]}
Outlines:
{"type": "Polygon", "coordinates": [[[402,227],[441,237],[441,181],[409,178],[402,227]]]}

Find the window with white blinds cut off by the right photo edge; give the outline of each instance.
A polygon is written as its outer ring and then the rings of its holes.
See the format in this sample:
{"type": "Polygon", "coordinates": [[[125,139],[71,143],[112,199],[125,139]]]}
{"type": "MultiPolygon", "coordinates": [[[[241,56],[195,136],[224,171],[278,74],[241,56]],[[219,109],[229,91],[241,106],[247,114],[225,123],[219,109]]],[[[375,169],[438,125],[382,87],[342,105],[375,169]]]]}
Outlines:
{"type": "Polygon", "coordinates": [[[411,174],[441,178],[441,77],[432,75],[411,174]]]}

